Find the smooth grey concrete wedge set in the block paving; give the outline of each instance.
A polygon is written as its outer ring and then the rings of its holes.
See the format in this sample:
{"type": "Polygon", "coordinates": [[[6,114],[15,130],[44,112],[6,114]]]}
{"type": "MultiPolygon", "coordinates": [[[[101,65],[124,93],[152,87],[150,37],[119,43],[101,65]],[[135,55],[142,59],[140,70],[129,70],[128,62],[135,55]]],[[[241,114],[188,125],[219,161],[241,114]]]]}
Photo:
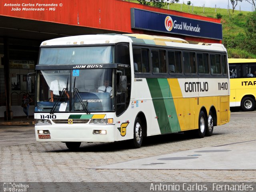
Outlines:
{"type": "Polygon", "coordinates": [[[96,169],[256,170],[255,146],[256,140],[237,142],[131,160],[96,169]]]}

